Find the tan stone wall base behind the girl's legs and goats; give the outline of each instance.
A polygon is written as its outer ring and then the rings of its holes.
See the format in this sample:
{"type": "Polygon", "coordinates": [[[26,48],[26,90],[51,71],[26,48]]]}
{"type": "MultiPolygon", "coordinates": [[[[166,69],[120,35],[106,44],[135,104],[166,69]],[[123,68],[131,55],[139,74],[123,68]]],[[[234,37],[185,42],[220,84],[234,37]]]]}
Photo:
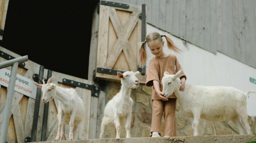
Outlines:
{"type": "MultiPolygon", "coordinates": [[[[106,103],[119,92],[121,87],[120,82],[106,81],[106,103]]],[[[133,98],[133,116],[131,123],[131,137],[143,138],[149,137],[152,120],[152,102],[150,100],[152,87],[140,85],[138,88],[133,89],[131,98],[133,98]]],[[[255,126],[256,118],[248,117],[252,133],[256,133],[255,126]]],[[[176,127],[177,136],[192,136],[193,130],[191,127],[191,120],[188,116],[182,113],[182,109],[177,100],[176,105],[176,127]]],[[[163,118],[161,124],[161,132],[163,134],[163,118]]],[[[198,127],[198,135],[235,135],[238,134],[238,129],[231,120],[224,122],[210,122],[200,120],[198,127]]],[[[126,137],[126,131],[122,128],[121,138],[126,137]]],[[[107,127],[105,138],[115,138],[115,128],[107,127]]]]}

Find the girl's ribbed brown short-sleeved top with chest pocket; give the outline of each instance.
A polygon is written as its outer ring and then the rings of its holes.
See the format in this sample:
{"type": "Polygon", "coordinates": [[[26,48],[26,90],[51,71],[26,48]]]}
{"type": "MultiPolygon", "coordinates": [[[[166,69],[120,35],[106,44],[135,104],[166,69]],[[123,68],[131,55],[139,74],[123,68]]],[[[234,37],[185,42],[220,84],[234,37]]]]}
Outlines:
{"type": "MultiPolygon", "coordinates": [[[[146,79],[146,86],[153,86],[153,80],[159,81],[160,91],[163,91],[162,85],[162,78],[164,71],[168,71],[170,74],[174,75],[177,71],[181,70],[182,66],[177,60],[175,55],[169,54],[167,57],[153,57],[149,62],[149,69],[147,71],[147,79],[146,79]]],[[[180,73],[179,78],[185,77],[187,80],[186,75],[182,71],[180,73]]],[[[173,93],[167,98],[176,98],[175,94],[173,93]]],[[[152,87],[152,96],[151,100],[160,100],[161,98],[157,95],[154,86],[152,87]]]]}

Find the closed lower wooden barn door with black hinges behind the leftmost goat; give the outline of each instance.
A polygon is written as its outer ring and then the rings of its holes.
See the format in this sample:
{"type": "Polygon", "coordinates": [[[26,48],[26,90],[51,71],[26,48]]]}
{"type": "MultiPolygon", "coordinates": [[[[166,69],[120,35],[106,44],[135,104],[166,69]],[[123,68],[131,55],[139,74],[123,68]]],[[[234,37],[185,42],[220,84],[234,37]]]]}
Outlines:
{"type": "MultiPolygon", "coordinates": [[[[15,54],[3,47],[0,46],[0,63],[7,61],[9,58],[21,57],[18,54],[15,54]]],[[[20,65],[20,64],[19,64],[20,65]]],[[[39,64],[36,64],[32,61],[27,61],[23,65],[18,66],[18,75],[21,75],[29,80],[33,80],[33,76],[39,73],[40,70],[39,64]]],[[[7,67],[6,70],[11,70],[11,66],[7,67]]],[[[47,69],[44,69],[44,79],[47,79],[47,69]]],[[[92,85],[92,81],[80,79],[73,77],[71,75],[65,75],[52,71],[52,76],[54,76],[52,82],[58,86],[63,86],[66,88],[74,88],[78,92],[78,95],[82,98],[85,105],[85,118],[82,123],[80,123],[78,130],[76,131],[75,139],[89,139],[89,125],[91,118],[91,98],[92,91],[93,94],[97,93],[98,87],[92,85]],[[93,90],[92,90],[93,89],[93,90]]],[[[2,78],[2,77],[0,77],[2,78]]],[[[1,80],[1,79],[0,79],[1,80]]],[[[16,81],[17,84],[17,81],[16,81]]],[[[34,81],[30,81],[28,84],[34,84],[34,81]]],[[[4,118],[4,108],[7,97],[8,88],[0,85],[0,129],[2,126],[4,118]]],[[[42,95],[41,95],[42,98],[42,95]]],[[[41,99],[40,98],[40,99],[41,99]]],[[[42,122],[43,122],[43,113],[44,106],[40,100],[39,116],[38,123],[36,127],[36,139],[35,141],[41,141],[42,136],[42,122]]],[[[13,95],[13,102],[11,105],[11,114],[9,119],[9,125],[7,130],[6,141],[8,143],[24,143],[25,139],[31,138],[31,130],[33,126],[33,117],[34,117],[34,108],[35,107],[35,98],[28,97],[15,91],[13,95]]],[[[49,102],[49,111],[47,119],[47,131],[46,131],[46,141],[54,141],[58,129],[58,119],[57,119],[57,108],[58,100],[51,100],[49,102]]],[[[69,127],[65,127],[65,139],[68,140],[69,136],[69,127]]]]}

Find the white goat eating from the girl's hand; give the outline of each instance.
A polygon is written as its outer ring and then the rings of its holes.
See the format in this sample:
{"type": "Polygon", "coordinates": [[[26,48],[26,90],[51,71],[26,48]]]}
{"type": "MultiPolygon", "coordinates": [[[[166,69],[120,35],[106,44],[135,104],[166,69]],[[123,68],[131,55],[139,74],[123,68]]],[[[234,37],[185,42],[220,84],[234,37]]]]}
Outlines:
{"type": "Polygon", "coordinates": [[[164,97],[175,93],[180,106],[185,114],[190,116],[194,136],[198,135],[198,124],[200,118],[210,121],[225,121],[231,119],[238,127],[239,134],[251,134],[251,127],[247,121],[246,98],[249,93],[256,93],[248,90],[246,93],[225,86],[198,86],[186,84],[185,90],[180,91],[179,75],[169,75],[165,71],[162,84],[164,97]],[[242,124],[242,122],[244,124],[242,124]]]}

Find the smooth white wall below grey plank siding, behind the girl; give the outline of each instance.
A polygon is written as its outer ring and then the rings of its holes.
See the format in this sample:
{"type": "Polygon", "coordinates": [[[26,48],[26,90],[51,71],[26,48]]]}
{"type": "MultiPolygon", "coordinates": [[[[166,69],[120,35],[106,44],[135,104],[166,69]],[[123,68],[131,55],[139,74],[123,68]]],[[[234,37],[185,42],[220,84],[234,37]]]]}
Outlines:
{"type": "MultiPolygon", "coordinates": [[[[151,32],[166,32],[147,25],[147,34],[151,32]]],[[[171,36],[175,45],[184,52],[177,54],[169,50],[165,45],[163,50],[167,54],[177,56],[184,73],[187,76],[186,84],[198,84],[202,86],[232,86],[246,92],[249,89],[256,90],[256,84],[250,82],[250,77],[256,79],[256,69],[243,64],[220,52],[213,54],[191,43],[184,43],[179,38],[171,36]]],[[[165,38],[163,38],[165,40],[165,38]]],[[[147,65],[154,55],[147,48],[147,65]]],[[[147,71],[147,70],[146,70],[147,71]]],[[[256,93],[250,93],[247,98],[247,112],[249,116],[256,116],[256,93]]]]}

